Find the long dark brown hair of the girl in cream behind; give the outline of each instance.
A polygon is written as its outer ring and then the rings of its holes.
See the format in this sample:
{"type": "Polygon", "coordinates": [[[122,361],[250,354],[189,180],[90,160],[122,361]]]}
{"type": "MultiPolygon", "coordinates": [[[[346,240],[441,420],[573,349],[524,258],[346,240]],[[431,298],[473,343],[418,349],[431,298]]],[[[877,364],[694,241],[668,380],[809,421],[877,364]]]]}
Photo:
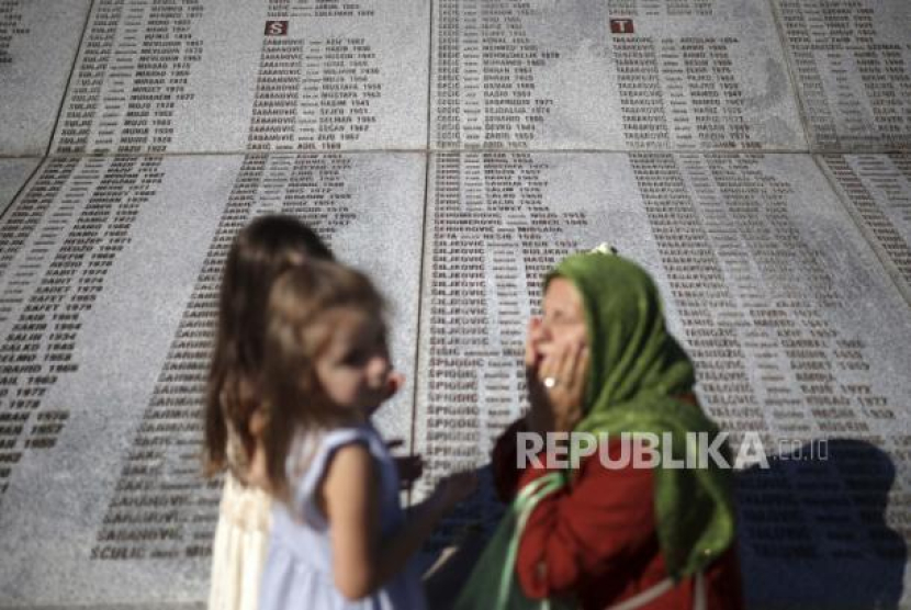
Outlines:
{"type": "Polygon", "coordinates": [[[265,314],[272,283],[293,266],[331,258],[319,237],[292,216],[260,216],[238,233],[222,276],[217,331],[205,394],[206,475],[228,465],[228,422],[237,431],[248,458],[256,447],[250,418],[260,406],[265,314]]]}

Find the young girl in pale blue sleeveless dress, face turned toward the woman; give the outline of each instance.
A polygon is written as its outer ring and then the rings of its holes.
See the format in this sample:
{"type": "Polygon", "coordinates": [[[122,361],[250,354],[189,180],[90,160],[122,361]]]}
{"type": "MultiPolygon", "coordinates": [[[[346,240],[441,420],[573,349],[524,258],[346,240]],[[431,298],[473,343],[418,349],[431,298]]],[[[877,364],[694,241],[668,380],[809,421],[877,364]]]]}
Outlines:
{"type": "Polygon", "coordinates": [[[265,447],[281,501],[261,610],[424,608],[409,560],[475,481],[443,481],[405,520],[369,421],[391,374],[381,297],[361,273],[314,261],[282,274],[268,315],[265,447]]]}

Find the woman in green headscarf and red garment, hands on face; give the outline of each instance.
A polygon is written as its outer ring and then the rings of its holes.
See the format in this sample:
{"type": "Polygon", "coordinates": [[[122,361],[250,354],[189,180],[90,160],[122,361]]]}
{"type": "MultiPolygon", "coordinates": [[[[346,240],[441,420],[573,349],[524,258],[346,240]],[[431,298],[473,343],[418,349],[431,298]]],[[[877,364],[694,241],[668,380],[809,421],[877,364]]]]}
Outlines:
{"type": "Polygon", "coordinates": [[[693,451],[687,432],[718,433],[651,278],[618,256],[571,256],[546,279],[543,314],[526,343],[531,408],[494,450],[513,505],[457,608],[741,608],[729,471],[611,468],[599,452],[577,468],[549,467],[547,451],[517,463],[519,432],[609,433],[615,464],[621,432],[657,434],[678,459],[693,451]]]}

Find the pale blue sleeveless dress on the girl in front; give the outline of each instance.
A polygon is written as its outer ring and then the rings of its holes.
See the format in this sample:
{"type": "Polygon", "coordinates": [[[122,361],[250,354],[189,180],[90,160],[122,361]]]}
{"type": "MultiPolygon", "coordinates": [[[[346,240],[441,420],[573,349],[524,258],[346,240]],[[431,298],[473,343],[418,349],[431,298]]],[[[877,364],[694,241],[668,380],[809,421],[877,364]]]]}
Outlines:
{"type": "Polygon", "coordinates": [[[260,610],[423,610],[424,590],[410,562],[370,597],[350,601],[335,587],[329,526],[316,506],[314,492],[336,450],[363,443],[380,475],[380,528],[386,536],[404,513],[398,501],[398,474],[380,434],[368,425],[340,428],[318,437],[299,438],[289,456],[291,506],[274,502],[272,536],[262,575],[260,610]]]}

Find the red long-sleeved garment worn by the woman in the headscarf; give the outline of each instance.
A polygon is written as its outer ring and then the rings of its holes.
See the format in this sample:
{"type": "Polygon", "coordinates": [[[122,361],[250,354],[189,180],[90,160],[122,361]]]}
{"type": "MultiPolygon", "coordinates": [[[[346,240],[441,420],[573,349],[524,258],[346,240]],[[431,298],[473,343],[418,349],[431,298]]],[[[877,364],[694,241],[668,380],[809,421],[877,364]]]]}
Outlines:
{"type": "MultiPolygon", "coordinates": [[[[508,501],[518,488],[549,471],[516,465],[516,432],[522,420],[497,440],[494,482],[508,501]]],[[[619,442],[608,451],[619,458],[619,442]]],[[[540,455],[543,463],[543,453],[540,455]]],[[[734,543],[705,573],[707,608],[743,608],[734,543]]],[[[530,598],[573,594],[585,610],[605,610],[667,577],[655,532],[652,472],[608,470],[597,453],[580,464],[575,481],[546,497],[531,512],[519,542],[516,572],[530,598]]],[[[694,578],[686,578],[645,610],[689,610],[694,578]]]]}

